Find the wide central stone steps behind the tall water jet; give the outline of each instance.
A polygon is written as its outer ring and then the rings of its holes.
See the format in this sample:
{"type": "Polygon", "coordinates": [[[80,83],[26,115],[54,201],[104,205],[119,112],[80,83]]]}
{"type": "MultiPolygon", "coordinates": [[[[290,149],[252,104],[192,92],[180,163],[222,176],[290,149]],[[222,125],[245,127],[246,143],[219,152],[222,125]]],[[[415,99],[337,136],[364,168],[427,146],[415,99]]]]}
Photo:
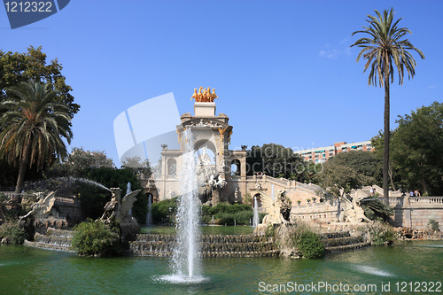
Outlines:
{"type": "MultiPolygon", "coordinates": [[[[172,256],[175,235],[138,235],[129,242],[129,255],[172,256]]],[[[279,251],[271,239],[253,235],[201,236],[201,257],[265,257],[278,256],[279,251]]]]}

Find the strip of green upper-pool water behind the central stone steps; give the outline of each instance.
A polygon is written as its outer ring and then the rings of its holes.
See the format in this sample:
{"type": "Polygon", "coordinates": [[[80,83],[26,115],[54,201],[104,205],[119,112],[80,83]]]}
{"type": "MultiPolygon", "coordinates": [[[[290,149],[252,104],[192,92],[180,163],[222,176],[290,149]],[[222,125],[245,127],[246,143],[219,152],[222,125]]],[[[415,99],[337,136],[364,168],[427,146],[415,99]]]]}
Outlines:
{"type": "MultiPolygon", "coordinates": [[[[202,235],[252,235],[253,227],[249,226],[202,226],[202,235]]],[[[175,235],[175,226],[146,226],[142,227],[142,234],[175,235]]]]}

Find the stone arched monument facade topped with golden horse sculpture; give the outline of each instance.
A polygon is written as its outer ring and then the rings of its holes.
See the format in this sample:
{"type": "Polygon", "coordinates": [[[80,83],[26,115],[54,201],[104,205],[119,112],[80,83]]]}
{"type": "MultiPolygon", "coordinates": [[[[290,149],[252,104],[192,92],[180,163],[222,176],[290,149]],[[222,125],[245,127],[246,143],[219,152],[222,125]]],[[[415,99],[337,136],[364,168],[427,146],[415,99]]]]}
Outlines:
{"type": "Polygon", "coordinates": [[[182,124],[176,127],[180,149],[170,150],[162,145],[161,167],[155,175],[155,193],[158,200],[181,194],[180,174],[183,170],[183,132],[191,129],[194,136],[194,151],[197,159],[198,195],[202,203],[233,203],[246,190],[246,151],[229,150],[232,126],[224,113],[216,114],[215,89],[194,89],[194,115],[184,113],[182,124]],[[236,171],[231,166],[237,166],[236,171]],[[234,173],[234,175],[233,175],[234,173]],[[237,191],[237,193],[236,193],[237,191]]]}

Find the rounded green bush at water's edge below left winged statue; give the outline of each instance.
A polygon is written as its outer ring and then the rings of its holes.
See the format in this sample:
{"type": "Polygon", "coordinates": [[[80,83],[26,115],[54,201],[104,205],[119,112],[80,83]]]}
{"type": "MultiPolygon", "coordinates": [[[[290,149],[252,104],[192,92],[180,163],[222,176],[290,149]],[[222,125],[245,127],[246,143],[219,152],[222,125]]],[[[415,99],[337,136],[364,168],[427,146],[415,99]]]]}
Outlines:
{"type": "Polygon", "coordinates": [[[118,254],[121,250],[119,229],[118,227],[112,229],[100,220],[79,223],[74,227],[72,247],[80,255],[118,254]]]}

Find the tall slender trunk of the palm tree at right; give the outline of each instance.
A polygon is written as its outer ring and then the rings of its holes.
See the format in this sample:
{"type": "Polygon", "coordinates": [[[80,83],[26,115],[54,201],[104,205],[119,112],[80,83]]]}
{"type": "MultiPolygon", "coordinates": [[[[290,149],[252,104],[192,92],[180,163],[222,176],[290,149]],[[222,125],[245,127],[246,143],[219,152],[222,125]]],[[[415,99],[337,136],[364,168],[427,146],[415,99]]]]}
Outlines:
{"type": "Polygon", "coordinates": [[[389,63],[385,60],[385,132],[383,134],[383,200],[385,205],[389,205],[389,63]]]}

